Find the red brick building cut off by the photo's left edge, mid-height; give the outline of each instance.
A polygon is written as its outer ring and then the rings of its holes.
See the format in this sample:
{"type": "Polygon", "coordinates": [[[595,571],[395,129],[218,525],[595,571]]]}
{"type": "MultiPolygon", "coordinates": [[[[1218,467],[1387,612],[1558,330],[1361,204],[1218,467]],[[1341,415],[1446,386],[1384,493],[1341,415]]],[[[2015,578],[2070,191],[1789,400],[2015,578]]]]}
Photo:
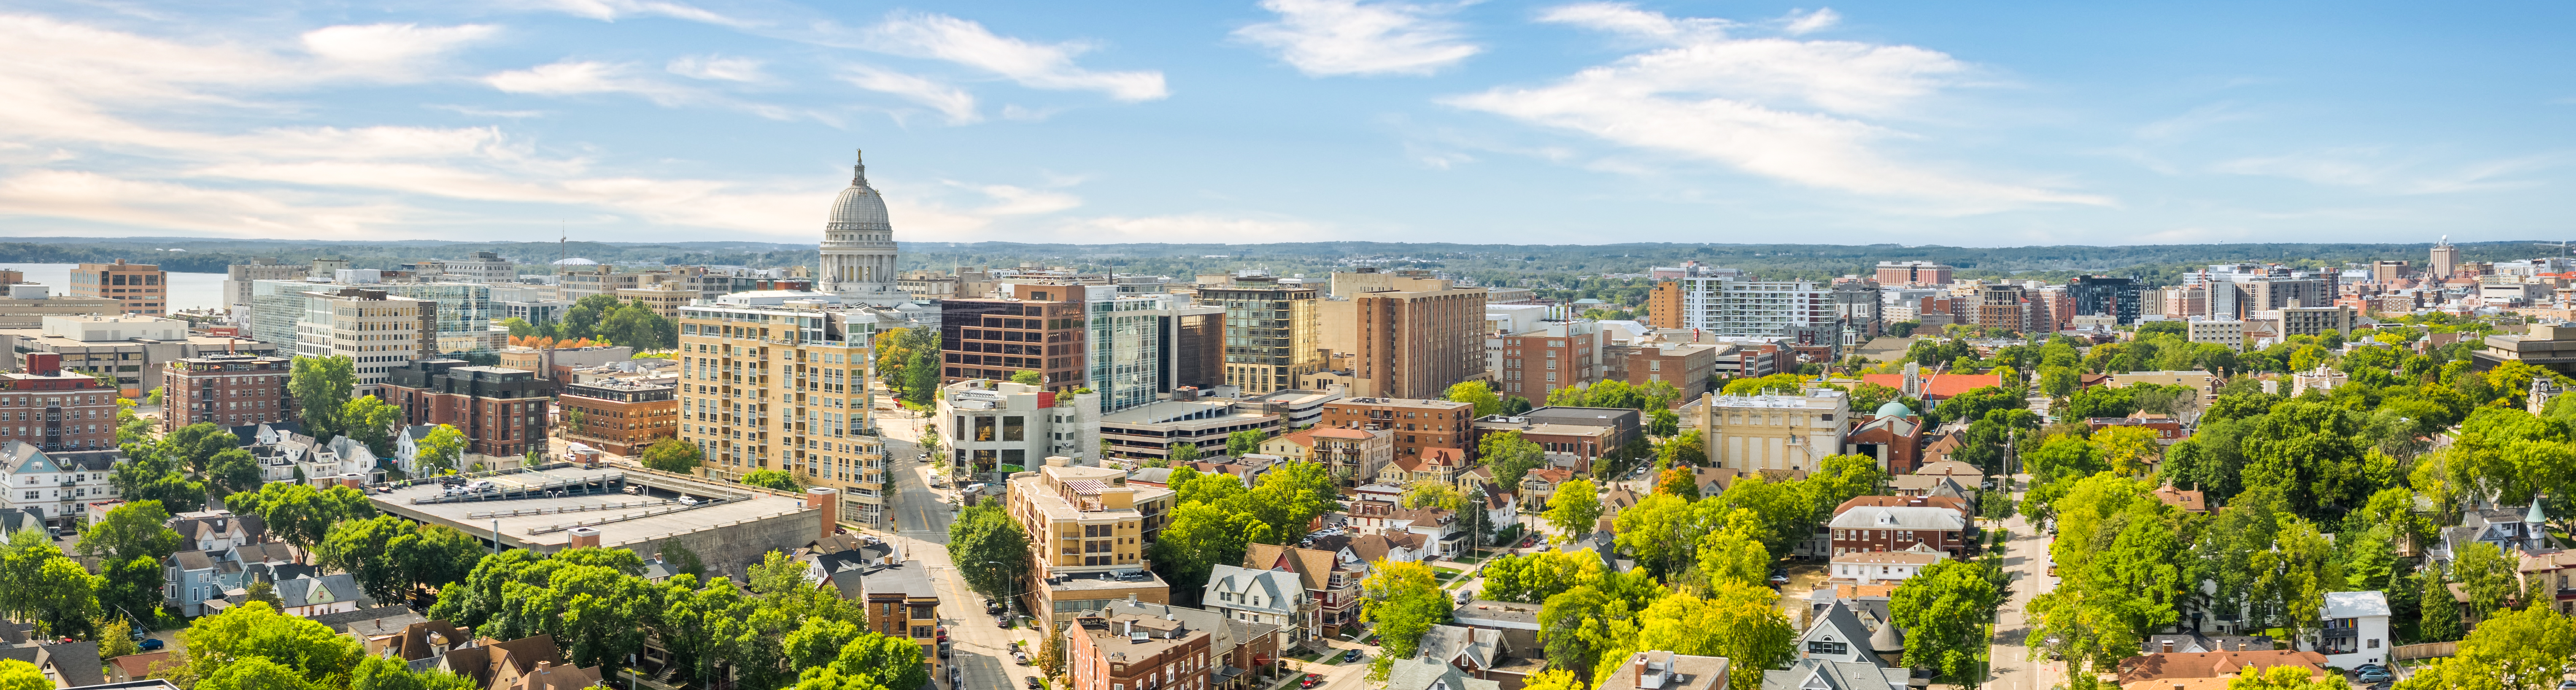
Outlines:
{"type": "Polygon", "coordinates": [[[26,371],[0,373],[0,443],[41,451],[116,448],[116,389],[62,371],[57,353],[26,353],[26,371]]]}

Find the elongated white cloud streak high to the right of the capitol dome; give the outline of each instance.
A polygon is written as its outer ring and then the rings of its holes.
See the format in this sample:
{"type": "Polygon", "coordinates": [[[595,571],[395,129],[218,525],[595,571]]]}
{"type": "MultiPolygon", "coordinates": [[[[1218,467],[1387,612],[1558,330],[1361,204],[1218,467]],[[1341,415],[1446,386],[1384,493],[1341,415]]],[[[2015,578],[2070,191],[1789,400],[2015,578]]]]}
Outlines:
{"type": "Polygon", "coordinates": [[[1162,72],[1092,72],[1074,64],[1090,51],[1087,44],[1030,44],[997,36],[981,23],[930,15],[891,13],[868,31],[868,49],[904,57],[945,59],[1002,75],[1025,88],[1043,90],[1097,90],[1118,100],[1159,100],[1172,93],[1162,72]]]}

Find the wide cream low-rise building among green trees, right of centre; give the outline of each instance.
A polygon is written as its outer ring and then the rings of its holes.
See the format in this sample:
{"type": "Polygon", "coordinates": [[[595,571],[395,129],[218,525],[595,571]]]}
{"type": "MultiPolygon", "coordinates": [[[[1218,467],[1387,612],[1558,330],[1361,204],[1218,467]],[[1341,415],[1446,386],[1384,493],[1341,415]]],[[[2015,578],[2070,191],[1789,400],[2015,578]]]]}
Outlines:
{"type": "Polygon", "coordinates": [[[1716,469],[1816,471],[1842,453],[1852,399],[1834,389],[1708,394],[1682,404],[1682,427],[1700,430],[1716,469]]]}

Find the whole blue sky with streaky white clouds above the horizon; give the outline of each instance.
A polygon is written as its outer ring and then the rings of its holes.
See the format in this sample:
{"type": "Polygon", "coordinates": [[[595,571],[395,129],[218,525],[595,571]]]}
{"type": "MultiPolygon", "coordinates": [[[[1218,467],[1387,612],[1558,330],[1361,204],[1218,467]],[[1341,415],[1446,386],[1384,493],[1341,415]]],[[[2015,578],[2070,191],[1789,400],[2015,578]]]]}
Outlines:
{"type": "Polygon", "coordinates": [[[0,10],[0,237],[2568,239],[2568,3],[0,10]]]}

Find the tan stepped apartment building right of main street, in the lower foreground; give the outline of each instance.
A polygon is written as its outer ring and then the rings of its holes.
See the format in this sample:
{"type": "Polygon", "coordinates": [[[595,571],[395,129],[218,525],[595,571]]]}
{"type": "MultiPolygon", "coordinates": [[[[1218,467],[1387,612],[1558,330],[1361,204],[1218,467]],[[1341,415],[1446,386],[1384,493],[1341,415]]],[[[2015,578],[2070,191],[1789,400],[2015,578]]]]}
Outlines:
{"type": "Polygon", "coordinates": [[[1121,469],[1046,466],[1010,476],[1010,518],[1028,530],[1028,610],[1074,620],[1110,600],[1170,602],[1172,587],[1144,554],[1170,520],[1172,489],[1131,487],[1121,469]]]}

